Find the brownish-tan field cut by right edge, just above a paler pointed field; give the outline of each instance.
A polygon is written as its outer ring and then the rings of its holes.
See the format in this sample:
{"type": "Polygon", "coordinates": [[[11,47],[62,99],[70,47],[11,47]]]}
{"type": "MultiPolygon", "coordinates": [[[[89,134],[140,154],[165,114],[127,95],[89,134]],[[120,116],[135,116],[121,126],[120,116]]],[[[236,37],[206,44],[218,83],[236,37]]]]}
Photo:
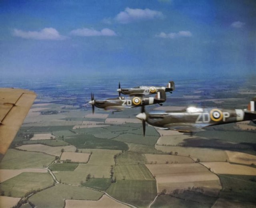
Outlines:
{"type": "Polygon", "coordinates": [[[243,152],[233,152],[233,151],[225,151],[228,155],[228,161],[229,162],[236,162],[236,163],[242,163],[242,164],[256,164],[256,156],[252,154],[246,154],[243,152]]]}

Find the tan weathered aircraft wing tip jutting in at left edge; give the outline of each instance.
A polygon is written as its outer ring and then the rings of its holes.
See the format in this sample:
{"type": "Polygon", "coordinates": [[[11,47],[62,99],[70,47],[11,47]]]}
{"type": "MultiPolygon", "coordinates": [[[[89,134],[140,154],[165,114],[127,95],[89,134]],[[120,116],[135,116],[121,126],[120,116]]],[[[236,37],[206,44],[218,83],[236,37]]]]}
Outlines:
{"type": "Polygon", "coordinates": [[[34,92],[0,88],[0,161],[36,98],[34,92]]]}

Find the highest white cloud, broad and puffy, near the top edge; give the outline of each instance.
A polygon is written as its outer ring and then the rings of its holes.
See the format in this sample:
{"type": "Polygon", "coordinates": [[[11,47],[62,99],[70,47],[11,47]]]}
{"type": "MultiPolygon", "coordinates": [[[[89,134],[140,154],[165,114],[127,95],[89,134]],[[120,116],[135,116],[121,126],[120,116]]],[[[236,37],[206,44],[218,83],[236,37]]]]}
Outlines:
{"type": "Polygon", "coordinates": [[[152,20],[155,18],[163,18],[162,12],[158,12],[150,9],[131,9],[126,8],[123,12],[120,12],[115,20],[122,24],[127,24],[139,20],[152,20]]]}

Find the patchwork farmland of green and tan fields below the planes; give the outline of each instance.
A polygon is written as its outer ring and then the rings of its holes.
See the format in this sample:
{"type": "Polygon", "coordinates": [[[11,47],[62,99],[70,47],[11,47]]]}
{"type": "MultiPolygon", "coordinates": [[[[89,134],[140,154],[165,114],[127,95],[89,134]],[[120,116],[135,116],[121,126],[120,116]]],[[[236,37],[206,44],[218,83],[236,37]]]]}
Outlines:
{"type": "MultiPolygon", "coordinates": [[[[250,79],[241,80],[240,88],[226,80],[214,87],[204,80],[175,81],[166,103],[146,110],[244,109],[256,93],[250,79]]],[[[96,108],[92,114],[90,91],[99,98],[118,96],[116,83],[102,90],[97,82],[17,84],[38,96],[0,163],[2,207],[255,207],[253,122],[212,126],[192,136],[147,126],[144,138],[135,117],[140,108],[114,114],[96,108]]],[[[165,81],[142,84],[152,83],[165,81]]]]}

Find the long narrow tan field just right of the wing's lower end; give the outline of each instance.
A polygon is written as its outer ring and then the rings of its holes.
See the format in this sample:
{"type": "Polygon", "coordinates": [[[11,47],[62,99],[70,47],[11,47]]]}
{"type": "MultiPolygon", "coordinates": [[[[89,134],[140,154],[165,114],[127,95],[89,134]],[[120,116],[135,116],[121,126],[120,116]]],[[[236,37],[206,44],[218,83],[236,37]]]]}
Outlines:
{"type": "Polygon", "coordinates": [[[46,154],[54,155],[54,156],[60,156],[61,149],[64,149],[64,152],[75,152],[76,147],[69,145],[69,146],[56,146],[56,147],[50,147],[44,144],[26,144],[19,146],[17,149],[20,150],[27,150],[32,152],[44,152],[46,154]]]}

